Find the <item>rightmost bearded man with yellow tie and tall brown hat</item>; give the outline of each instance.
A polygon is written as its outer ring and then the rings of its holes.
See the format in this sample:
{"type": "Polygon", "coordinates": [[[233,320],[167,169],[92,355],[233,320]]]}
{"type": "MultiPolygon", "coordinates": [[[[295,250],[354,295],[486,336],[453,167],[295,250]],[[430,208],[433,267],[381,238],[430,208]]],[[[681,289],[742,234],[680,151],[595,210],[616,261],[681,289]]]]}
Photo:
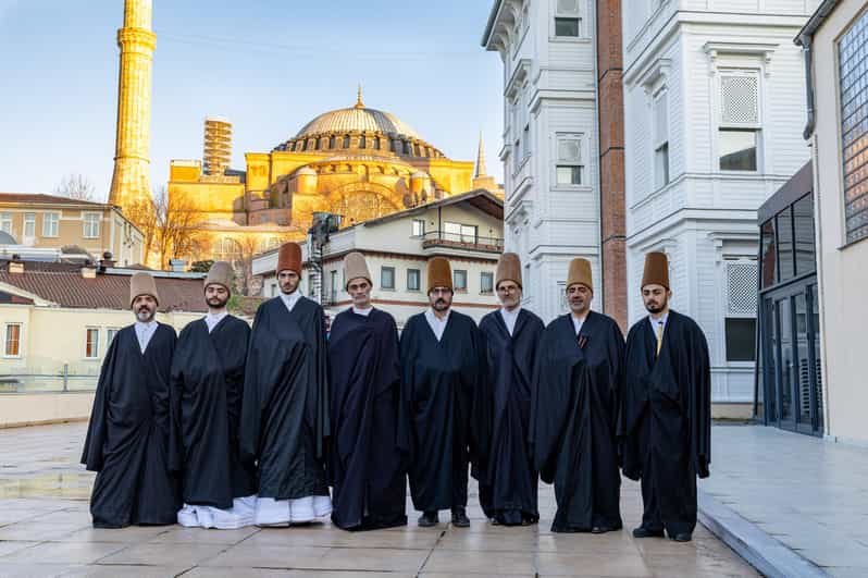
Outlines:
{"type": "Polygon", "coordinates": [[[699,325],[669,309],[669,261],[645,256],[642,299],[648,317],[627,337],[621,420],[623,472],[642,479],[645,512],[636,538],[689,542],[696,527],[696,476],[711,462],[711,373],[699,325]]]}

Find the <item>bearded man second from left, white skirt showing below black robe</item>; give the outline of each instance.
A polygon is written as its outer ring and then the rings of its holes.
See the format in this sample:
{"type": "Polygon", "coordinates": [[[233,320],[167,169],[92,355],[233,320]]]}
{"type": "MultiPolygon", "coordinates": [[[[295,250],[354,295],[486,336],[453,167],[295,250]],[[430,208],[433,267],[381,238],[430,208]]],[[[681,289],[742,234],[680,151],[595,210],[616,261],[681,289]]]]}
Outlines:
{"type": "Polygon", "coordinates": [[[248,324],[228,315],[233,271],[211,266],[204,280],[208,315],[185,327],[172,362],[175,408],[171,466],[182,472],[182,526],[232,529],[253,524],[256,480],[238,456],[248,324]]]}

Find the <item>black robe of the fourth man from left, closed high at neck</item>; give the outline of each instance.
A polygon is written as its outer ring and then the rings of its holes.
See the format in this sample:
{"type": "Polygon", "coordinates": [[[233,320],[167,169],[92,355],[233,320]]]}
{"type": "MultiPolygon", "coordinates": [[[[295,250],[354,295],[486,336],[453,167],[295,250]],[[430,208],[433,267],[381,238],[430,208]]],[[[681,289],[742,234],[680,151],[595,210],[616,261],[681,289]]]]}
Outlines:
{"type": "Polygon", "coordinates": [[[332,520],[347,530],[407,524],[405,459],[397,445],[400,362],[395,319],[343,311],[328,337],[332,378],[332,520]]]}

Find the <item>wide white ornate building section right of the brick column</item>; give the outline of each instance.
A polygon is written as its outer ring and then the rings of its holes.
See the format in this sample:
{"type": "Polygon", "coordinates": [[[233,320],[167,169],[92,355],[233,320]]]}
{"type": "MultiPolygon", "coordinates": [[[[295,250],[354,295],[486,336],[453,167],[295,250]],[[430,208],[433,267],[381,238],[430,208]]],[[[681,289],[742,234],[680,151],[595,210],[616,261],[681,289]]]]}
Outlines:
{"type": "MultiPolygon", "coordinates": [[[[754,392],[757,208],[807,160],[804,61],[818,0],[629,0],[623,11],[627,265],[670,258],[673,307],[698,321],[718,414],[754,392]]],[[[737,405],[745,404],[745,405],[737,405]]]]}

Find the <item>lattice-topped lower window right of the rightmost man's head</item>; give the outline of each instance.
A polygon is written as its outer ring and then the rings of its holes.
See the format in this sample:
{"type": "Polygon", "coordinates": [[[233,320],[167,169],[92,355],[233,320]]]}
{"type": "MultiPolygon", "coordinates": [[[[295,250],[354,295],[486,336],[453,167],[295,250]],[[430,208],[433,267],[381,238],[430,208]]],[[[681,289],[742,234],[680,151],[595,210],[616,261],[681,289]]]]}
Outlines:
{"type": "Polygon", "coordinates": [[[758,269],[753,259],[723,261],[726,311],[723,330],[727,361],[756,360],[756,304],[758,269]]]}

